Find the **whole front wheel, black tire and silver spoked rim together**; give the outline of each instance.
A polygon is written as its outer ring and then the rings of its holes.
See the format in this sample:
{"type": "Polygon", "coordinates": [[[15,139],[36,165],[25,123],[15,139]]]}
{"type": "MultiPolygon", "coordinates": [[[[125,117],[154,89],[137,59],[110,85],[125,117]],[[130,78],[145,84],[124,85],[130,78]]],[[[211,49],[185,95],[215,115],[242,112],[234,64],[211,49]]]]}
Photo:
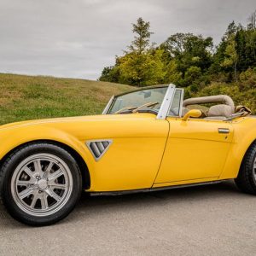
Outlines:
{"type": "Polygon", "coordinates": [[[3,163],[3,203],[26,224],[53,224],[73,210],[82,190],[79,166],[63,148],[32,143],[3,163]]]}

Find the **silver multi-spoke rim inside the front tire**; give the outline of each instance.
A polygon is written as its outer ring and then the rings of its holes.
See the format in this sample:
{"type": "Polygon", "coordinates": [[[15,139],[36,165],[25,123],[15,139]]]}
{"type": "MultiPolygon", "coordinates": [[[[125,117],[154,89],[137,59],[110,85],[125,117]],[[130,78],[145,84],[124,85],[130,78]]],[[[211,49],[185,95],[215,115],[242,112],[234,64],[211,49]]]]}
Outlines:
{"type": "Polygon", "coordinates": [[[32,154],[15,168],[11,194],[20,209],[44,217],[65,206],[73,190],[67,164],[54,154],[32,154]]]}

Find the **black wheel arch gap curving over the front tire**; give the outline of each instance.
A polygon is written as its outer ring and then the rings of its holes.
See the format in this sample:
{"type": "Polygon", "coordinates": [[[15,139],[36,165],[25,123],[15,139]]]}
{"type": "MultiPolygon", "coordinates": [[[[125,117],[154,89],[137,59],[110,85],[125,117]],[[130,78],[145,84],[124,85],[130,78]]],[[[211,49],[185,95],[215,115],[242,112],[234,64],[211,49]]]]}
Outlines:
{"type": "Polygon", "coordinates": [[[83,189],[90,188],[90,172],[89,172],[89,168],[88,168],[84,158],[77,152],[77,150],[75,150],[71,146],[67,145],[66,143],[61,143],[59,141],[55,141],[52,139],[38,139],[38,140],[29,141],[26,143],[21,143],[20,145],[16,146],[15,148],[12,148],[11,150],[9,150],[9,152],[3,156],[3,158],[0,160],[0,167],[3,165],[4,161],[9,157],[9,155],[12,154],[15,150],[22,148],[26,145],[30,145],[32,143],[49,143],[49,144],[53,144],[60,148],[65,149],[69,154],[71,154],[73,156],[74,160],[76,160],[76,162],[79,166],[79,170],[82,175],[83,189]]]}

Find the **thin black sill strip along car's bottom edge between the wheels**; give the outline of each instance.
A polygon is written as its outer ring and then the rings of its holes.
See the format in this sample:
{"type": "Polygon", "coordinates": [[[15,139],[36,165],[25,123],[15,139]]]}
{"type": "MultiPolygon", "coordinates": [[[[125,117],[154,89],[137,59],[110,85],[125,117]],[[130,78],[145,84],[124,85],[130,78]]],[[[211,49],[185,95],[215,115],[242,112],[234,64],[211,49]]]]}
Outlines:
{"type": "Polygon", "coordinates": [[[154,192],[154,191],[160,191],[160,190],[182,189],[182,188],[210,185],[210,184],[221,183],[221,182],[224,182],[224,181],[227,181],[227,180],[228,179],[223,179],[223,180],[216,180],[216,181],[203,182],[203,183],[190,183],[190,184],[183,184],[183,185],[172,185],[172,186],[159,187],[159,188],[150,188],[150,189],[131,189],[131,190],[102,191],[102,192],[90,192],[90,191],[88,191],[88,192],[90,193],[90,195],[126,195],[126,194],[154,192]]]}

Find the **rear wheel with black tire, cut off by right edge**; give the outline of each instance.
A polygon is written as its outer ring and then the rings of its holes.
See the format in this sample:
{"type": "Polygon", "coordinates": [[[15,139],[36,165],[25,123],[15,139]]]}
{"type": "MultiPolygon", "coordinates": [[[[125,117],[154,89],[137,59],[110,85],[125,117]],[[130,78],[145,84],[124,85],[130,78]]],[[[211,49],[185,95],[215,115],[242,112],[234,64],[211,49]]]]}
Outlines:
{"type": "Polygon", "coordinates": [[[248,148],[241,163],[238,176],[235,179],[236,185],[241,191],[256,195],[256,143],[248,148]]]}

